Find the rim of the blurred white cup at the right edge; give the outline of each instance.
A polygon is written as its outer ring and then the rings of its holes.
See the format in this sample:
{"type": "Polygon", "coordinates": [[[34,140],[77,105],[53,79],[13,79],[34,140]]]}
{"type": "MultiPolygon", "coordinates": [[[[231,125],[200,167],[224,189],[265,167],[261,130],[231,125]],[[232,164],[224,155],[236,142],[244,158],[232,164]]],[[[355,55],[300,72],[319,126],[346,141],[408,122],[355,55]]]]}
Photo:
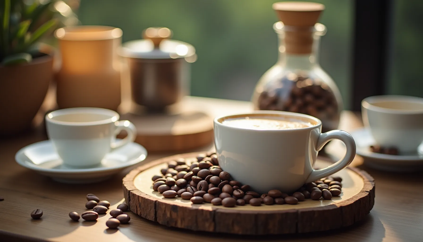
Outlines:
{"type": "Polygon", "coordinates": [[[361,101],[361,107],[382,113],[388,114],[423,114],[422,110],[402,110],[402,109],[393,109],[393,108],[382,108],[379,106],[375,106],[372,103],[380,101],[404,101],[409,103],[419,103],[423,106],[423,98],[421,97],[414,97],[414,96],[406,96],[406,95],[379,95],[379,96],[371,96],[366,97],[361,101]]]}

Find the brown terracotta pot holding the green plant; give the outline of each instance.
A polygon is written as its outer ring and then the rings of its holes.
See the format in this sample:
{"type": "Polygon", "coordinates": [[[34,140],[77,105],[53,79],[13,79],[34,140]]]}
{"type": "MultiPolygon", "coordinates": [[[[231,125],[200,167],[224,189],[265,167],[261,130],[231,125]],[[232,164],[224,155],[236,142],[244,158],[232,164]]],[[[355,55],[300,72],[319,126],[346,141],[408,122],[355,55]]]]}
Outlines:
{"type": "Polygon", "coordinates": [[[30,128],[53,80],[53,57],[42,56],[29,64],[0,66],[0,136],[30,128]]]}

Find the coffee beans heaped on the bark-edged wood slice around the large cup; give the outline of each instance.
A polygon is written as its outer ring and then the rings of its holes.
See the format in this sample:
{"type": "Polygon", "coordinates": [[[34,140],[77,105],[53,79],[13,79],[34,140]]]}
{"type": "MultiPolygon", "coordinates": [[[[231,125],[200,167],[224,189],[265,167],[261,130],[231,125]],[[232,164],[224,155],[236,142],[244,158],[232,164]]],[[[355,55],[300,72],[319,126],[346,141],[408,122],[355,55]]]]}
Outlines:
{"type": "Polygon", "coordinates": [[[198,154],[192,159],[177,159],[168,162],[162,174],[154,175],[153,190],[163,197],[181,197],[192,203],[211,203],[225,207],[261,206],[261,204],[297,204],[305,199],[330,200],[341,195],[342,178],[329,176],[318,181],[304,184],[298,191],[286,194],[279,190],[270,190],[258,194],[249,185],[231,180],[231,175],[220,168],[216,153],[198,154]]]}

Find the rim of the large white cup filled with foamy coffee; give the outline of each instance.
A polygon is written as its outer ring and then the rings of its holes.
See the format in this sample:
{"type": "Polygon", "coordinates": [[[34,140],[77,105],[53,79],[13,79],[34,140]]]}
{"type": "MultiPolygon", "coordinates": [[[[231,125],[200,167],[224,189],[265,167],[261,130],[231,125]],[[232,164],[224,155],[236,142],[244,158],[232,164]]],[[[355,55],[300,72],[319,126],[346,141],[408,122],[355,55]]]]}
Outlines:
{"type": "MultiPolygon", "coordinates": [[[[299,120],[299,121],[301,121],[301,120],[299,120]]],[[[321,127],[321,120],[319,120],[316,117],[307,115],[307,114],[299,114],[299,113],[293,113],[293,112],[287,112],[287,111],[270,111],[270,110],[263,111],[263,110],[261,110],[261,111],[251,111],[251,112],[248,112],[248,113],[236,113],[236,114],[229,114],[229,115],[224,115],[224,116],[221,116],[221,117],[216,117],[214,119],[214,124],[221,125],[221,126],[224,126],[224,127],[227,127],[227,128],[233,128],[233,129],[236,129],[236,130],[261,132],[261,133],[263,133],[263,132],[295,132],[295,131],[299,131],[299,130],[313,130],[315,128],[319,128],[319,127],[321,127]],[[313,120],[315,122],[315,124],[311,125],[309,127],[305,127],[305,128],[268,129],[268,130],[265,129],[265,130],[262,130],[262,129],[249,129],[249,128],[232,127],[232,126],[224,125],[222,122],[219,121],[221,119],[228,119],[228,118],[231,118],[231,117],[244,116],[244,115],[247,116],[247,115],[251,115],[251,114],[264,114],[264,115],[266,115],[266,114],[272,114],[272,115],[279,114],[281,116],[284,115],[284,116],[288,116],[288,117],[306,118],[308,120],[313,120]]]]}

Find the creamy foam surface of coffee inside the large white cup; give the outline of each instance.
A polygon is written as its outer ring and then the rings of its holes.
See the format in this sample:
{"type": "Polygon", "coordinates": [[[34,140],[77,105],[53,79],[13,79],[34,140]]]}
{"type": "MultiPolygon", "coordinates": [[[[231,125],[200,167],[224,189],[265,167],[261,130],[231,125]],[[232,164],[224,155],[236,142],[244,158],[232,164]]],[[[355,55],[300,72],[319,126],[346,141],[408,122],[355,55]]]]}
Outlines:
{"type": "Polygon", "coordinates": [[[310,123],[301,121],[288,121],[288,120],[277,120],[277,119],[266,119],[263,118],[250,118],[242,117],[238,119],[227,119],[223,120],[222,124],[245,129],[256,129],[256,130],[282,130],[282,129],[297,129],[310,127],[310,123]]]}

